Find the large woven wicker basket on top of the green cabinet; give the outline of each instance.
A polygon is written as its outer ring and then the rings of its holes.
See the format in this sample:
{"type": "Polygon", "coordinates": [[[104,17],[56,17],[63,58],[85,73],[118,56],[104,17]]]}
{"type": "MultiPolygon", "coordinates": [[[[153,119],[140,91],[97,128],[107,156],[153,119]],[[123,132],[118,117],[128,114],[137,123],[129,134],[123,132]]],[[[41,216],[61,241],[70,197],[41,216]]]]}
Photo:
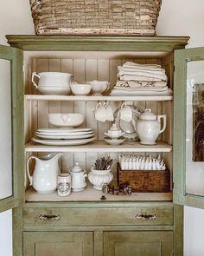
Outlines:
{"type": "Polygon", "coordinates": [[[29,0],[38,35],[156,34],[162,0],[29,0]]]}

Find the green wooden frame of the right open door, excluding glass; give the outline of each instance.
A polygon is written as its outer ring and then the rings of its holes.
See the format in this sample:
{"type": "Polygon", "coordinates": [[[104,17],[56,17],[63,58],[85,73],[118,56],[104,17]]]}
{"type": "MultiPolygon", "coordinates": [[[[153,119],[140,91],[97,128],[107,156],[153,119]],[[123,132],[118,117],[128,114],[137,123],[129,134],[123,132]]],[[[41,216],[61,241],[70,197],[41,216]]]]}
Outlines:
{"type": "Polygon", "coordinates": [[[204,60],[204,48],[175,51],[173,164],[174,202],[204,208],[204,197],[186,193],[187,62],[201,60],[204,60]]]}

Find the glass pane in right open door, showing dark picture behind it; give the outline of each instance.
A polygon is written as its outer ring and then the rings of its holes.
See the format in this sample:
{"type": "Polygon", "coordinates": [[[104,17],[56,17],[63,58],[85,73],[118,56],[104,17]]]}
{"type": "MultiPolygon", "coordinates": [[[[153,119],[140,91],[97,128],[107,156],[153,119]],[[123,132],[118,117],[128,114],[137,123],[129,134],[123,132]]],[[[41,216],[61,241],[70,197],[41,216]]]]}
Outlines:
{"type": "Polygon", "coordinates": [[[204,195],[204,61],[187,66],[186,194],[204,195]]]}

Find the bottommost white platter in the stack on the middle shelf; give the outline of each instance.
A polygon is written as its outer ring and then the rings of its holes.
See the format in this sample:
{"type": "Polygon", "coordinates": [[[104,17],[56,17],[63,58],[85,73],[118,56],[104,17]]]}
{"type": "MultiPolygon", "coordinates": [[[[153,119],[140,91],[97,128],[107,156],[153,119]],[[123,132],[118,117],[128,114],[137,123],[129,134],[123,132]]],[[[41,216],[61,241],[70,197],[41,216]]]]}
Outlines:
{"type": "Polygon", "coordinates": [[[37,143],[40,143],[42,145],[47,146],[77,146],[77,145],[84,145],[86,143],[92,142],[96,140],[96,137],[93,137],[91,139],[84,139],[84,140],[41,140],[32,138],[32,141],[35,141],[37,143]]]}

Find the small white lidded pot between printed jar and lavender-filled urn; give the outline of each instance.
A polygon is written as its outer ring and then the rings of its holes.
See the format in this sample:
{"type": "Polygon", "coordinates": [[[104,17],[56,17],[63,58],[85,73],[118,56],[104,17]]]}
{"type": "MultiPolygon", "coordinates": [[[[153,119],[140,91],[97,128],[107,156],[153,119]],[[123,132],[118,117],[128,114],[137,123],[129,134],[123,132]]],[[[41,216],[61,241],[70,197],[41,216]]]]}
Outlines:
{"type": "Polygon", "coordinates": [[[71,174],[71,187],[73,192],[82,191],[86,187],[86,171],[82,170],[80,167],[79,162],[76,162],[75,166],[73,167],[71,174]]]}

